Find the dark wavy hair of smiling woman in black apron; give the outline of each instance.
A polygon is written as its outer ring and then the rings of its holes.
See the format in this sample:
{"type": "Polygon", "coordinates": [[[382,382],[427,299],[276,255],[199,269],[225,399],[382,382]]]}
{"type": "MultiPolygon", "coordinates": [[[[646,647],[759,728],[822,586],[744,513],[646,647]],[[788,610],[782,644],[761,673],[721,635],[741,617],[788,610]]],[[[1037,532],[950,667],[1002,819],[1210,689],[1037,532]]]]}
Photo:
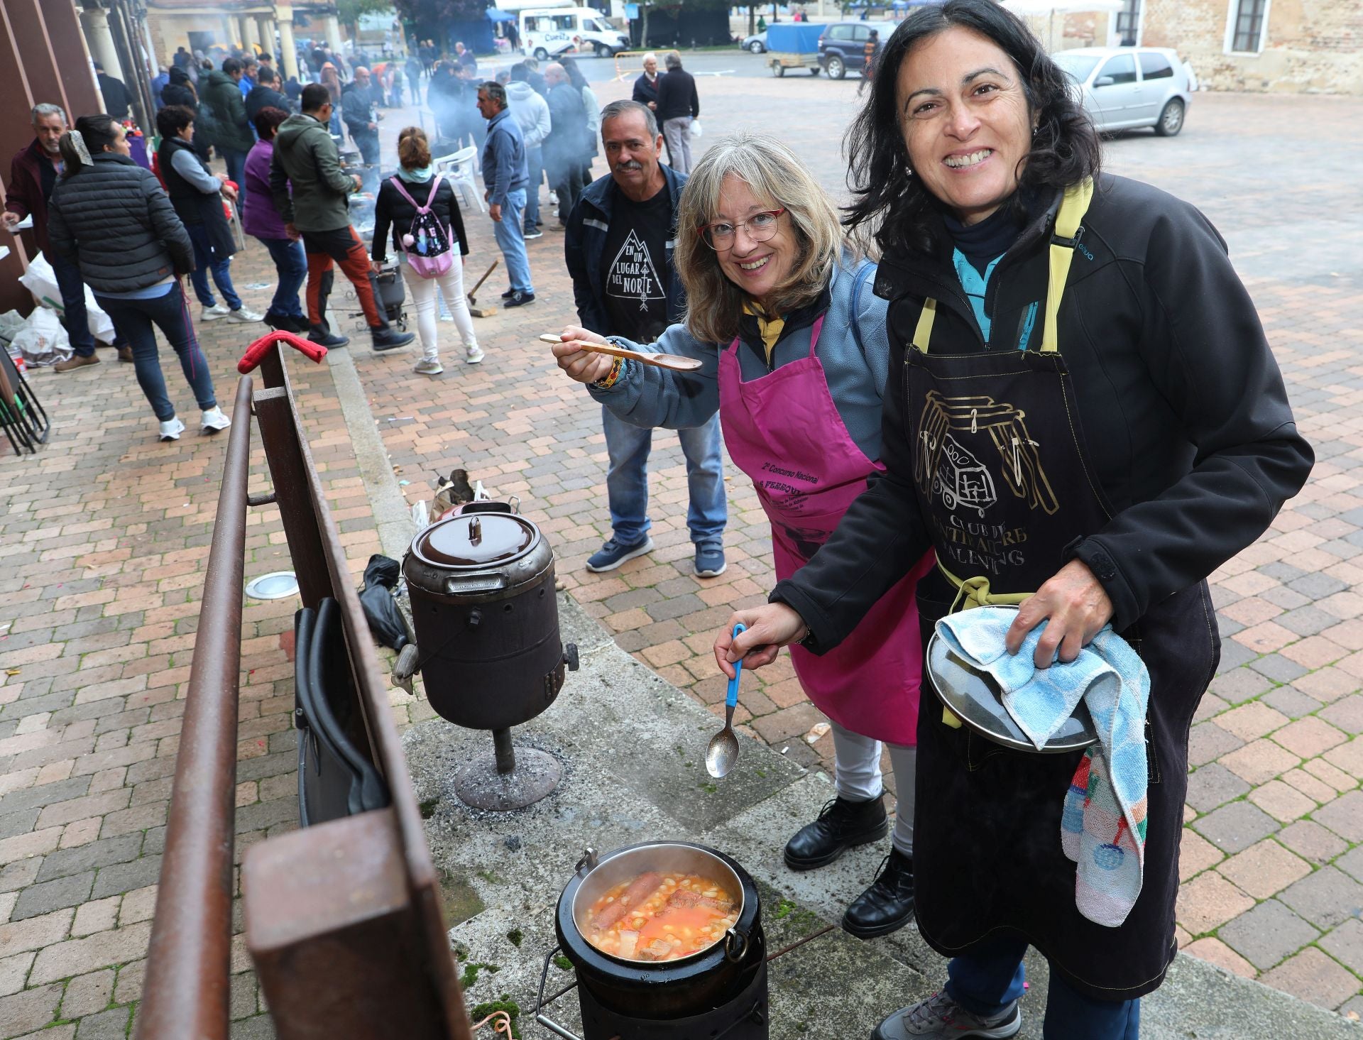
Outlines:
{"type": "Polygon", "coordinates": [[[1070,93],[1069,78],[1017,15],[994,0],[919,7],[886,42],[871,80],[871,97],[842,144],[853,198],[844,207],[842,222],[867,247],[932,247],[927,218],[934,196],[909,166],[900,129],[898,80],[900,67],[915,46],[954,27],[987,37],[1018,68],[1028,112],[1036,123],[1018,187],[1056,189],[1099,174],[1101,149],[1093,123],[1070,93]]]}

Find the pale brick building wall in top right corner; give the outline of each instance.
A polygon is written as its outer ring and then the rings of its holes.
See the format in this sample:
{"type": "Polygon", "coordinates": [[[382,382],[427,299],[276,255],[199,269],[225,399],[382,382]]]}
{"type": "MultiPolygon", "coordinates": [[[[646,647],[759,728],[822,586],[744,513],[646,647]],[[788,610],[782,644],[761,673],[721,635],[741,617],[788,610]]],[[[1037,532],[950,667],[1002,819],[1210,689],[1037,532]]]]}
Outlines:
{"type": "Polygon", "coordinates": [[[1261,55],[1225,53],[1229,0],[1146,0],[1141,42],[1171,46],[1209,90],[1363,94],[1363,0],[1272,0],[1261,55]]]}

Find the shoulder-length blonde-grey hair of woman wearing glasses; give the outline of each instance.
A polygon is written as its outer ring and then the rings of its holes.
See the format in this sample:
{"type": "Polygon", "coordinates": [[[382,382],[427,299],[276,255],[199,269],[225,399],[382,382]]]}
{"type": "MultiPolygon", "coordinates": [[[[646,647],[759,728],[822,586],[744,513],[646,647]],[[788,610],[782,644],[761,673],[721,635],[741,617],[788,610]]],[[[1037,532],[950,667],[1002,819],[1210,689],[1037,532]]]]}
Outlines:
{"type": "Polygon", "coordinates": [[[687,292],[687,330],[705,343],[732,341],[750,299],[729,281],[718,255],[701,237],[720,211],[720,194],[729,176],[747,184],[771,209],[784,209],[791,222],[797,248],[795,263],[767,300],[777,313],[814,303],[846,247],[833,200],[789,147],[766,134],[735,134],[717,140],[682,189],[673,255],[687,292]]]}

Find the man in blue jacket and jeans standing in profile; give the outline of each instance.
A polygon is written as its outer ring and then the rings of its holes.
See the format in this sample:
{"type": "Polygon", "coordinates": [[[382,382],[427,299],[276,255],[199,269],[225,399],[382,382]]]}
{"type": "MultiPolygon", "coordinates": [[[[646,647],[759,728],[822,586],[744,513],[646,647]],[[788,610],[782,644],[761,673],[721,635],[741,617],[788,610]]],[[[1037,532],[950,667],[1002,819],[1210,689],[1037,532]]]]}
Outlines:
{"type": "Polygon", "coordinates": [[[525,251],[521,219],[525,213],[525,189],[530,183],[525,159],[521,125],[507,112],[507,89],[496,82],[478,85],[478,112],[488,121],[488,139],[483,144],[483,184],[487,191],[492,234],[507,264],[511,294],[507,307],[534,303],[530,284],[530,258],[525,251]]]}

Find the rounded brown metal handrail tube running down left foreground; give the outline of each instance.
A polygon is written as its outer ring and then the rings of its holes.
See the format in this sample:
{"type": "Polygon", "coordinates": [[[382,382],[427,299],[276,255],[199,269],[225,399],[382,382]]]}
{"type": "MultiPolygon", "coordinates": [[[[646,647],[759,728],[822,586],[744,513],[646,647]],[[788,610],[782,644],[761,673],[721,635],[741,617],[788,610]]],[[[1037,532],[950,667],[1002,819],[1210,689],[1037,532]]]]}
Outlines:
{"type": "Polygon", "coordinates": [[[226,1040],[251,378],[237,382],[166,821],[138,1040],[226,1040]]]}

